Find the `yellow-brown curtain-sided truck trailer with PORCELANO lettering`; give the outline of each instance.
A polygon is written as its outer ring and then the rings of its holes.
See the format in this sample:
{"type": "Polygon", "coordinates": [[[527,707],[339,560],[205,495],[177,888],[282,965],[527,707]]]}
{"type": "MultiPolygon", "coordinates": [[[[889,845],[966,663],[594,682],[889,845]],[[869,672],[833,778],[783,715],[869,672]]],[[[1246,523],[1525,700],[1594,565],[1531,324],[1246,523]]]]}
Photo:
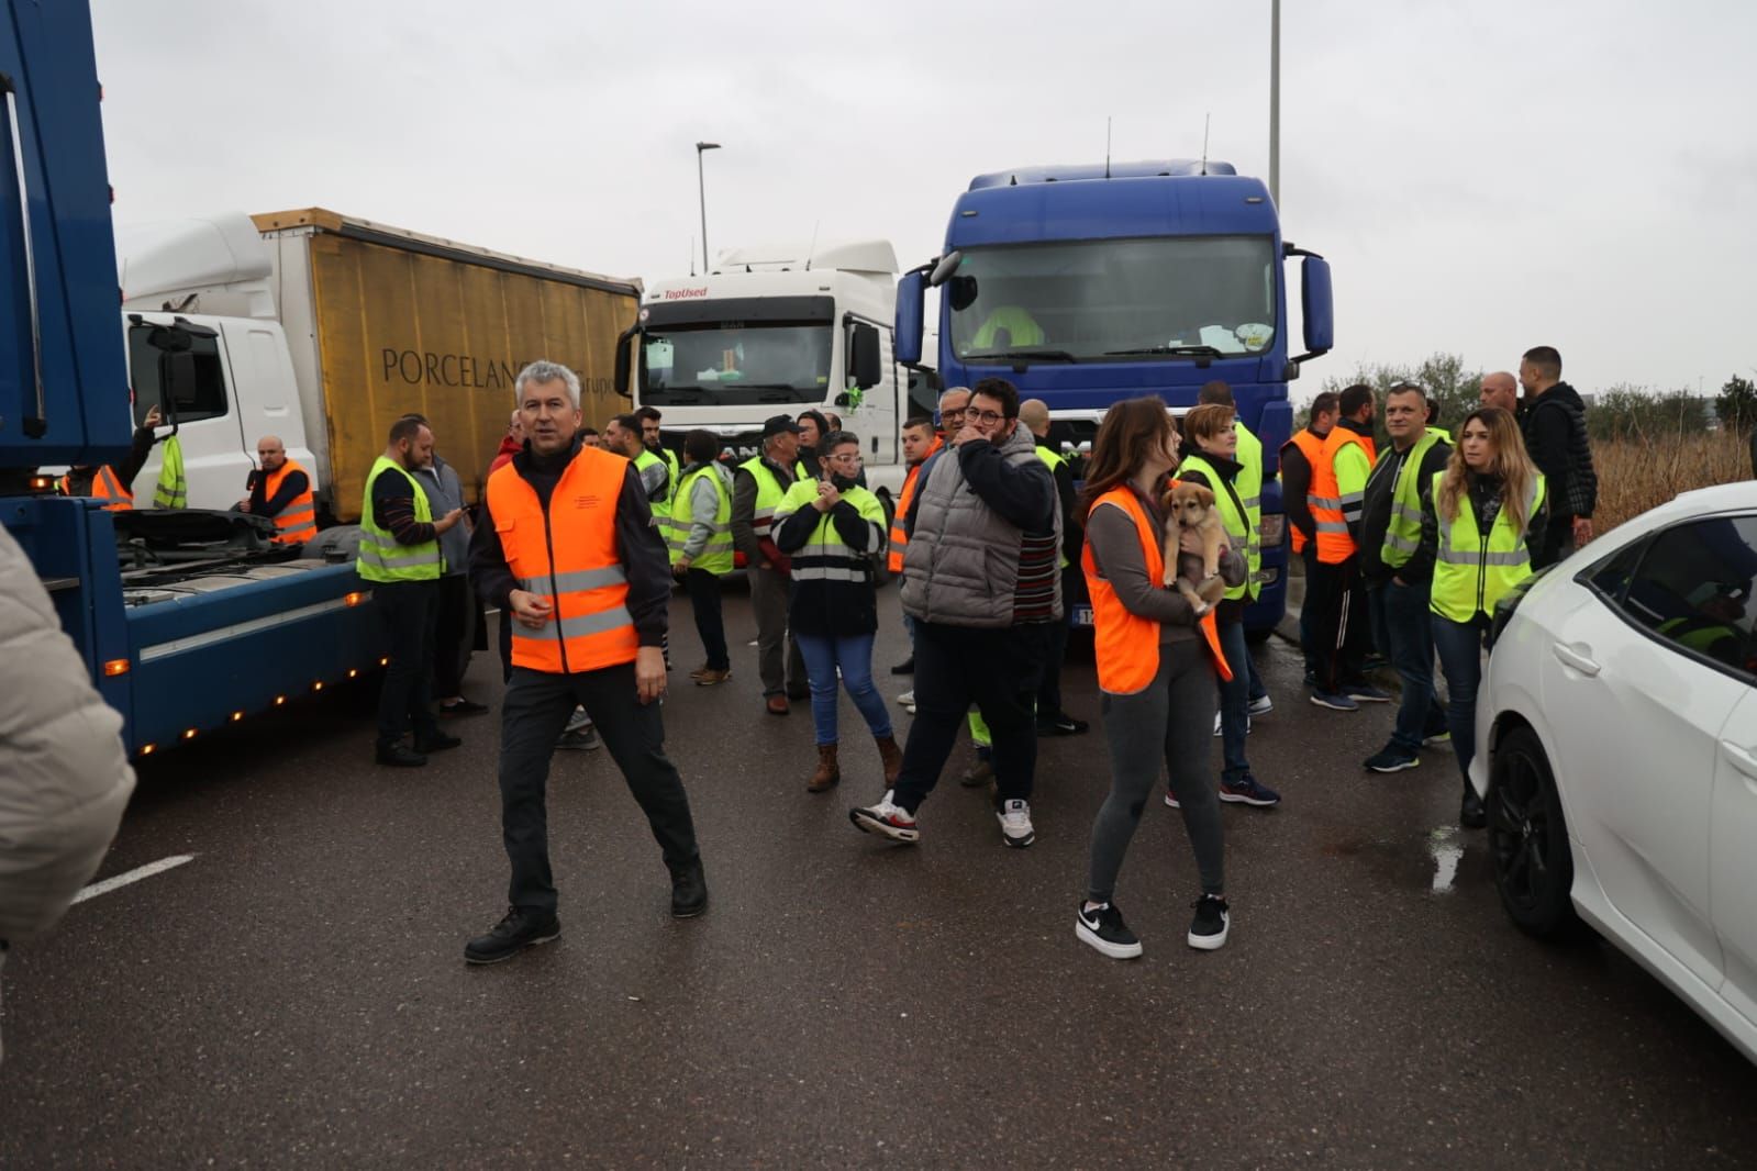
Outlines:
{"type": "Polygon", "coordinates": [[[329,469],[336,520],[358,520],[385,434],[411,411],[427,416],[437,451],[480,500],[513,409],[513,379],[527,362],[562,362],[580,376],[590,427],[603,430],[627,409],[613,365],[617,335],[640,307],[638,281],[320,207],[253,219],[276,251],[306,439],[329,469]]]}

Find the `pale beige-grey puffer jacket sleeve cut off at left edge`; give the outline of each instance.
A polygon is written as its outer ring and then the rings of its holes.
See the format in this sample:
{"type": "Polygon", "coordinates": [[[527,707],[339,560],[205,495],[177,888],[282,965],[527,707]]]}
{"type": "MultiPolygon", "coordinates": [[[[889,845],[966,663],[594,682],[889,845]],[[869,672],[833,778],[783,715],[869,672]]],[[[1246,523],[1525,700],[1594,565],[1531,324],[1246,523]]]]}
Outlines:
{"type": "Polygon", "coordinates": [[[0,939],[30,939],[61,918],[132,792],[121,716],[0,528],[0,939]]]}

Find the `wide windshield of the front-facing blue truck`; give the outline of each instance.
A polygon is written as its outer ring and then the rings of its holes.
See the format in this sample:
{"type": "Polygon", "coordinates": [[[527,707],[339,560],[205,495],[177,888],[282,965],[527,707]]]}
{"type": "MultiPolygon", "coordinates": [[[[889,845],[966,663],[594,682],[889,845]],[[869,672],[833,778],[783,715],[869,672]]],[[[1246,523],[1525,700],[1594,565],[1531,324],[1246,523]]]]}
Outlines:
{"type": "Polygon", "coordinates": [[[1276,339],[1267,235],[966,248],[945,284],[952,349],[1042,362],[1188,362],[1276,339]]]}

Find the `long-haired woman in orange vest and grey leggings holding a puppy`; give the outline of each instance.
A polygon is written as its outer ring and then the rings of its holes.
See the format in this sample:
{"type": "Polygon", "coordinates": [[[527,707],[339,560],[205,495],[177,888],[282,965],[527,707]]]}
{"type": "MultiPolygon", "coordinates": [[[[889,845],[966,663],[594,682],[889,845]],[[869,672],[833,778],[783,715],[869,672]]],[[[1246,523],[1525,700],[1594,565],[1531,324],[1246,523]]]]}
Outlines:
{"type": "MultiPolygon", "coordinates": [[[[1105,414],[1086,465],[1086,550],[1093,599],[1093,648],[1110,746],[1110,795],[1093,822],[1091,867],[1075,934],[1112,959],[1140,955],[1140,939],[1112,902],[1123,855],[1153,795],[1160,769],[1184,815],[1202,897],[1186,936],[1189,946],[1226,943],[1219,804],[1207,778],[1216,665],[1198,614],[1165,586],[1165,516],[1160,492],[1177,467],[1177,425],[1158,399],[1130,399],[1105,414]]],[[[1186,553],[1200,555],[1191,535],[1186,553]]],[[[1221,555],[1221,579],[1244,581],[1244,558],[1221,555]]],[[[1175,567],[1172,567],[1175,572],[1175,567]]]]}

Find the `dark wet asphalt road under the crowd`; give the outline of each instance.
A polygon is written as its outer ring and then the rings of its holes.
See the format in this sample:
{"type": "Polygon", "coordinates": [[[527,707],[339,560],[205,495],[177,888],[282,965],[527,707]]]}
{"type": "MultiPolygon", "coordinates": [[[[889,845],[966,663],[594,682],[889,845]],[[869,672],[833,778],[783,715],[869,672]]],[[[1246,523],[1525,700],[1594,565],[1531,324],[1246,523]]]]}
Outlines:
{"type": "MultiPolygon", "coordinates": [[[[608,757],[559,753],[562,938],[466,967],[503,911],[494,715],[422,771],[369,764],[348,693],[149,762],[100,878],[193,860],[14,950],[0,1167],[1757,1164],[1757,1067],[1613,948],[1515,932],[1450,753],[1363,772],[1390,711],[1305,704],[1279,641],[1249,750],[1284,802],[1223,811],[1232,941],[1184,946],[1195,869],[1154,804],[1117,890],[1147,953],[1114,962],[1072,929],[1107,788],[1089,664],[1037,844],[1000,844],[959,748],[907,848],[847,822],[880,787],[845,700],[842,788],[805,792],[810,718],[761,713],[741,593],[727,621],[733,679],[680,671],[666,704],[698,920],[608,757]]],[[[682,599],[673,630],[687,667],[682,599]]],[[[471,683],[497,699],[497,664],[471,683]]]]}

